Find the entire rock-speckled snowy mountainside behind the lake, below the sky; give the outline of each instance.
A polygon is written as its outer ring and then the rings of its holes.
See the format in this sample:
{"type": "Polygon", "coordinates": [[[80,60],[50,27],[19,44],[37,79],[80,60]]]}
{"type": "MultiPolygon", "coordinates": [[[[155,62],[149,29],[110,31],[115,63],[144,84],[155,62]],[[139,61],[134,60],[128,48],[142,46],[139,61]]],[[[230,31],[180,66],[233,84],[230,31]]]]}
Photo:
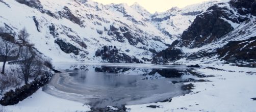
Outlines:
{"type": "Polygon", "coordinates": [[[104,46],[116,46],[119,52],[139,60],[151,59],[213,3],[152,15],[136,3],[128,6],[90,0],[2,0],[0,26],[10,32],[26,27],[30,41],[55,62],[107,62],[95,57],[95,51],[104,46]],[[158,21],[162,16],[170,19],[158,21]]]}

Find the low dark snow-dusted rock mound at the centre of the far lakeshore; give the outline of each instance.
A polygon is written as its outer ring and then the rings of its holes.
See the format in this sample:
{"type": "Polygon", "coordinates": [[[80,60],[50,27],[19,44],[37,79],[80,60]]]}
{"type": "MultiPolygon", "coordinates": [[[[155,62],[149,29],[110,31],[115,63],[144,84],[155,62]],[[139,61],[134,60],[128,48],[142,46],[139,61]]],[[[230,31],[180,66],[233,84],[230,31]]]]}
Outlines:
{"type": "Polygon", "coordinates": [[[101,57],[101,59],[110,63],[143,63],[136,57],[130,57],[129,55],[123,53],[115,46],[104,46],[95,52],[95,56],[101,57]]]}

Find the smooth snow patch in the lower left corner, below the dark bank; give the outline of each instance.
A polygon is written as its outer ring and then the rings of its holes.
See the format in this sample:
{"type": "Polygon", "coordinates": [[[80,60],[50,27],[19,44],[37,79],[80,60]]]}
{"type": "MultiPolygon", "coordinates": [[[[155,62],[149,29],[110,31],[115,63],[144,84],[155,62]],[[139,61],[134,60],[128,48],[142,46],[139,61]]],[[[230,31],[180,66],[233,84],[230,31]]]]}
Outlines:
{"type": "Polygon", "coordinates": [[[16,105],[1,106],[2,105],[0,105],[0,108],[3,108],[3,111],[7,112],[82,112],[90,110],[90,106],[88,105],[48,95],[47,93],[43,92],[42,89],[38,90],[31,97],[19,102],[16,105]]]}

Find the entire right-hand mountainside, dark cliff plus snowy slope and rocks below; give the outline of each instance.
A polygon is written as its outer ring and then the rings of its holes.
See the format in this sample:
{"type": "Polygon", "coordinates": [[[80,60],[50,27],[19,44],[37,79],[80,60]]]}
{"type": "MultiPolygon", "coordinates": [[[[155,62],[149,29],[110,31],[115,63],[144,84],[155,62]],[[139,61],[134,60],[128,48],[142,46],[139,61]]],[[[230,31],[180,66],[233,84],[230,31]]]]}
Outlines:
{"type": "Polygon", "coordinates": [[[254,49],[254,43],[249,41],[255,36],[252,33],[255,30],[254,4],[254,0],[215,4],[198,15],[181,38],[158,53],[152,62],[159,62],[158,59],[164,60],[160,62],[178,60],[173,53],[177,49],[187,51],[180,58],[198,59],[217,54],[224,60],[232,57],[243,61],[254,60],[254,57],[245,55],[245,52],[253,52],[254,49]]]}

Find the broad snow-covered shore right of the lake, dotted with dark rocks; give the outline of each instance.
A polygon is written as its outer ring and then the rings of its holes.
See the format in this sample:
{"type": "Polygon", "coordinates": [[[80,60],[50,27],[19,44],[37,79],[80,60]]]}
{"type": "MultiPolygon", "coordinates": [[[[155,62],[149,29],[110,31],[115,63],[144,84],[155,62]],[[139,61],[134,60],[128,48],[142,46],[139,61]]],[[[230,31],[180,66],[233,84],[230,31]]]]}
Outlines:
{"type": "Polygon", "coordinates": [[[195,86],[190,94],[174,97],[171,102],[128,105],[128,111],[256,111],[256,101],[251,99],[256,97],[255,68],[222,64],[210,67],[217,69],[194,70],[215,77],[199,78],[211,80],[208,82],[188,82],[195,86]]]}

